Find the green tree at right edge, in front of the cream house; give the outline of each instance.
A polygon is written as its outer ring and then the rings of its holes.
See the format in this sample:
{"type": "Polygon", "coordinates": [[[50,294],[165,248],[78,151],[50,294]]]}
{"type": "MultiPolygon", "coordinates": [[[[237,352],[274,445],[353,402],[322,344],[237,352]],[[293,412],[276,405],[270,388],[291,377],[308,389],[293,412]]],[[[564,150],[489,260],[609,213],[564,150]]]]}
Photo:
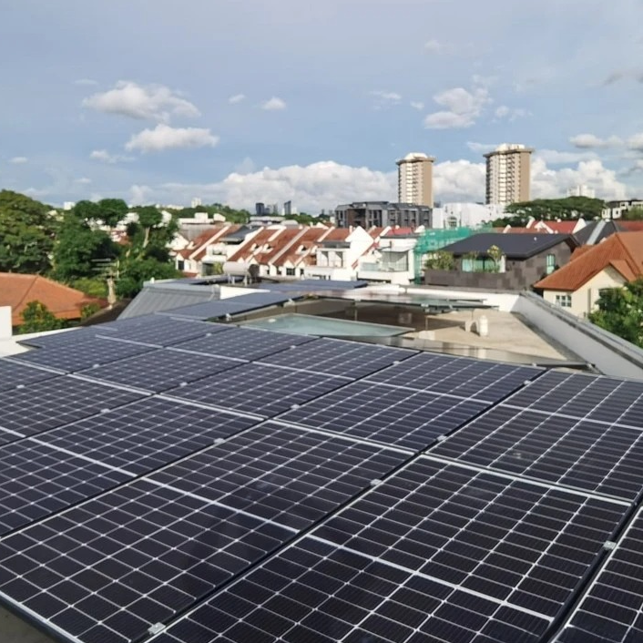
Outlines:
{"type": "Polygon", "coordinates": [[[600,292],[589,321],[643,348],[643,279],[600,292]]]}

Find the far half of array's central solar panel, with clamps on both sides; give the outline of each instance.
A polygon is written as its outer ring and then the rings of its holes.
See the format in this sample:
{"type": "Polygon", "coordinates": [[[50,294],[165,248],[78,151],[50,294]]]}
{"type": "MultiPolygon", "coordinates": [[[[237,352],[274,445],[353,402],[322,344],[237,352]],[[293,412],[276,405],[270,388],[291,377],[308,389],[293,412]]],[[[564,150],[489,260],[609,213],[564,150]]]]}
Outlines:
{"type": "Polygon", "coordinates": [[[149,479],[303,529],[407,458],[380,446],[267,423],[149,479]]]}

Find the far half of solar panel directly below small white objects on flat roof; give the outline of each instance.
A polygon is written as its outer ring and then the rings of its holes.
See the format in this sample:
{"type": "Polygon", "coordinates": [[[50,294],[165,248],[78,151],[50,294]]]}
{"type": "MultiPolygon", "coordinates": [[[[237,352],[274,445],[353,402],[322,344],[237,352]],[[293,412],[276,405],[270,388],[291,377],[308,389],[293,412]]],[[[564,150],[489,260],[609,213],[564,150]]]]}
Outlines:
{"type": "Polygon", "coordinates": [[[368,379],[414,391],[451,393],[496,402],[540,373],[543,373],[541,369],[530,366],[422,352],[368,379]]]}

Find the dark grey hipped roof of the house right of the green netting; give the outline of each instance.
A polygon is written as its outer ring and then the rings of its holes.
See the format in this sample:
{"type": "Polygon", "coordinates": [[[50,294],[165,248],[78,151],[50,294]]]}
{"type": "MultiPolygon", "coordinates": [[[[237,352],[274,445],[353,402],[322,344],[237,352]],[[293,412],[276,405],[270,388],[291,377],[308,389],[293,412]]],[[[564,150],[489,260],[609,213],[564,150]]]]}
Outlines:
{"type": "Polygon", "coordinates": [[[502,232],[482,232],[462,241],[456,241],[443,250],[455,256],[467,252],[479,252],[485,255],[491,246],[497,246],[509,259],[528,259],[539,252],[549,250],[559,243],[570,242],[577,245],[568,234],[504,234],[502,232]]]}

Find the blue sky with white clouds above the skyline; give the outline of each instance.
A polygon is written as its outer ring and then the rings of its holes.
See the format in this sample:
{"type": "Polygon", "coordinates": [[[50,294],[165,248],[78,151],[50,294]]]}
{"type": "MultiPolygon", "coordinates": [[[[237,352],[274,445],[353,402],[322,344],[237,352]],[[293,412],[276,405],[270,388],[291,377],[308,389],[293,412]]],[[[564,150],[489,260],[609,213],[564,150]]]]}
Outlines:
{"type": "Polygon", "coordinates": [[[643,197],[640,0],[0,0],[0,189],[311,213],[485,198],[483,154],[535,148],[532,197],[643,197]]]}

